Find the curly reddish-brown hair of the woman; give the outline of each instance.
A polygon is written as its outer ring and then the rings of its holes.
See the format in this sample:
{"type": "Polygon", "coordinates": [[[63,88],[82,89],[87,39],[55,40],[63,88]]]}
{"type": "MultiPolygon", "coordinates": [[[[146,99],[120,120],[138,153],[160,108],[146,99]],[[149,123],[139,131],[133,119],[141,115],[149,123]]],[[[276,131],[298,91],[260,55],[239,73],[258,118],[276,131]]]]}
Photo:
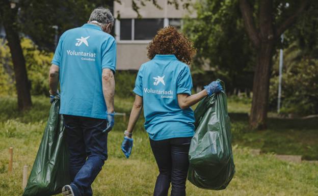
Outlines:
{"type": "Polygon", "coordinates": [[[179,61],[188,65],[196,54],[193,42],[178,32],[174,26],[167,26],[159,30],[147,49],[149,59],[153,59],[156,54],[174,54],[179,61]]]}

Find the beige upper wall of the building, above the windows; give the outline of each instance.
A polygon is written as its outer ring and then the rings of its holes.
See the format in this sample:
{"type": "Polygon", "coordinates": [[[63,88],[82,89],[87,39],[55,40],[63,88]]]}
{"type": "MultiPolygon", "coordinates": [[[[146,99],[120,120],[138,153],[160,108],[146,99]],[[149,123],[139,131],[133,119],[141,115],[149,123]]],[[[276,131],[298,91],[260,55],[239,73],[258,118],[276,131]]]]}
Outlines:
{"type": "MultiPolygon", "coordinates": [[[[179,0],[178,0],[179,1],[179,0]]],[[[193,0],[192,2],[194,2],[193,0]]],[[[132,8],[131,0],[121,0],[121,4],[114,2],[114,13],[115,18],[118,17],[118,12],[120,18],[137,18],[137,13],[132,8]]],[[[140,10],[139,13],[143,18],[183,18],[186,15],[191,17],[196,17],[195,13],[190,14],[189,10],[184,10],[182,8],[182,2],[179,1],[179,9],[176,10],[173,5],[168,5],[167,0],[157,1],[163,9],[156,8],[151,2],[145,2],[146,6],[141,6],[139,4],[140,10]]]]}

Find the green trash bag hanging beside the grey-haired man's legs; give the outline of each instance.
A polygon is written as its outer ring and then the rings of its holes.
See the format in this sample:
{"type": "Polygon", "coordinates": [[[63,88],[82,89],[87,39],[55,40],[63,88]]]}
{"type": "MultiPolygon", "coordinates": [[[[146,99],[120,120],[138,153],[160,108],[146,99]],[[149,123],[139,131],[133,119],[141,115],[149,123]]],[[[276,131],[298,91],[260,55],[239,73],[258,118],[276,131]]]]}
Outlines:
{"type": "Polygon", "coordinates": [[[48,196],[61,193],[70,183],[69,152],[65,141],[60,100],[55,99],[23,196],[48,196]]]}

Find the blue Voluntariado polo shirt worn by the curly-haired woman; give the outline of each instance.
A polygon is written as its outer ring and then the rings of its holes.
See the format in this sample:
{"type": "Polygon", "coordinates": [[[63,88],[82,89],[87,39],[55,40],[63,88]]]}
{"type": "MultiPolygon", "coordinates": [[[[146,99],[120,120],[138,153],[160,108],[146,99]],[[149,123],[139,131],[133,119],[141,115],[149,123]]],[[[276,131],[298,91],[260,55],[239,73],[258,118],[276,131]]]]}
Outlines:
{"type": "Polygon", "coordinates": [[[179,107],[177,94],[191,95],[188,65],[175,55],[155,55],[139,69],[134,92],[143,97],[145,129],[153,140],[194,135],[194,113],[179,107]]]}

